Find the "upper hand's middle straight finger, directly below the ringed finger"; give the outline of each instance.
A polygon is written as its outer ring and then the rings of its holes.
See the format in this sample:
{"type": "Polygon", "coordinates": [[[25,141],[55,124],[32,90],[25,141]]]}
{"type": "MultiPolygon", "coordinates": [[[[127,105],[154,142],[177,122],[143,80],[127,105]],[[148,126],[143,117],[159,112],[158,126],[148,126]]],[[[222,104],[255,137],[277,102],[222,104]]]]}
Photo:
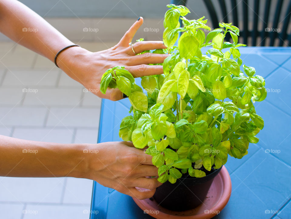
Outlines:
{"type": "Polygon", "coordinates": [[[129,56],[129,63],[132,66],[142,65],[142,64],[158,64],[163,63],[164,60],[169,56],[169,54],[156,54],[146,52],[137,56],[129,56]]]}

